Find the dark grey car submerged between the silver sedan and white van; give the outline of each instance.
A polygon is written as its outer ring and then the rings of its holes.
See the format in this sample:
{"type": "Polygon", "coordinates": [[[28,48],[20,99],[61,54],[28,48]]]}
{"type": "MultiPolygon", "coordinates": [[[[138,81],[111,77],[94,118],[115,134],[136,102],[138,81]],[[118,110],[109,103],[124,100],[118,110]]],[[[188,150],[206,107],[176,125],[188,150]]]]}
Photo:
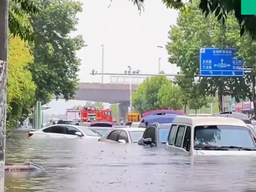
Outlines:
{"type": "Polygon", "coordinates": [[[159,144],[166,144],[168,134],[171,128],[171,123],[153,123],[149,125],[144,133],[142,138],[139,140],[139,145],[147,145],[147,138],[151,138],[151,146],[157,146],[159,144]],[[146,141],[146,142],[144,142],[146,141]]]}

